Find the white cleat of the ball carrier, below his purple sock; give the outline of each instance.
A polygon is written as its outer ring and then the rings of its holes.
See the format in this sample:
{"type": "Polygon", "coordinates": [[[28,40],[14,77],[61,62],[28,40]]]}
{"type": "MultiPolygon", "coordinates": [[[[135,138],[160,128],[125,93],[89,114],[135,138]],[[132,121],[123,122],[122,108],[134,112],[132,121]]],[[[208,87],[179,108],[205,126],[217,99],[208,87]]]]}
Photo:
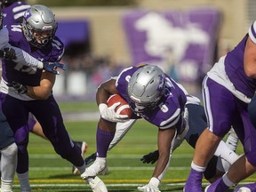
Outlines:
{"type": "Polygon", "coordinates": [[[97,157],[93,164],[85,169],[81,177],[86,180],[87,178],[95,177],[101,172],[106,172],[106,169],[108,169],[106,158],[97,157]]]}

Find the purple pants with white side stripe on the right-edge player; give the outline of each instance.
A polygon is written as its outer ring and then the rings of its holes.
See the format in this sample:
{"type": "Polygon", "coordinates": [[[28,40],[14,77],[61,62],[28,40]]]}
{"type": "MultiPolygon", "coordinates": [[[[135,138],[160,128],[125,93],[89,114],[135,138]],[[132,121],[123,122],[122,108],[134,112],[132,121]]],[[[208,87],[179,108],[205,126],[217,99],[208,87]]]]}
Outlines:
{"type": "Polygon", "coordinates": [[[256,129],[247,112],[248,104],[238,100],[232,92],[211,78],[203,83],[204,108],[210,131],[224,136],[233,126],[244,146],[244,154],[252,165],[256,165],[256,129]]]}

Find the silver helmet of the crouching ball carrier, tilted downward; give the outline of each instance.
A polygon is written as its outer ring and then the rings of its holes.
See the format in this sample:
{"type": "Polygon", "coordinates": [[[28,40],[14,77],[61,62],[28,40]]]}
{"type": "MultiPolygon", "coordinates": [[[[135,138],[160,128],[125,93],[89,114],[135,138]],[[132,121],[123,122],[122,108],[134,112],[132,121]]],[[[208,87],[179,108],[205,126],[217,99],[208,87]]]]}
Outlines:
{"type": "Polygon", "coordinates": [[[146,65],[139,68],[128,83],[128,95],[134,104],[135,112],[156,108],[164,94],[165,74],[161,68],[146,65]]]}

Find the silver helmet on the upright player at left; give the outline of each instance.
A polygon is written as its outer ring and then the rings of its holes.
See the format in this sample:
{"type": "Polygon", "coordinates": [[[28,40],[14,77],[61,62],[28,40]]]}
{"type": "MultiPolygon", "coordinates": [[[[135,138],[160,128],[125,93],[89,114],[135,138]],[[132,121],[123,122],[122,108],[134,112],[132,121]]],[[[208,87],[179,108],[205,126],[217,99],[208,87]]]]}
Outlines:
{"type": "Polygon", "coordinates": [[[23,15],[24,36],[30,44],[43,48],[52,42],[58,24],[53,12],[43,4],[32,5],[23,15]]]}

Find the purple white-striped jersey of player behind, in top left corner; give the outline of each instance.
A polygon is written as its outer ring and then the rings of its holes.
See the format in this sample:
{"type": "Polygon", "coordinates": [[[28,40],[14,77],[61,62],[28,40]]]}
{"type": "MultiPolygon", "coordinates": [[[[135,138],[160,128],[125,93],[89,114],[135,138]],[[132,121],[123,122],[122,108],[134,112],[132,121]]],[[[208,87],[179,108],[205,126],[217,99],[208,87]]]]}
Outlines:
{"type": "Polygon", "coordinates": [[[13,4],[4,7],[4,25],[9,26],[12,25],[13,23],[20,22],[24,12],[29,7],[30,5],[25,2],[14,2],[13,4]]]}

